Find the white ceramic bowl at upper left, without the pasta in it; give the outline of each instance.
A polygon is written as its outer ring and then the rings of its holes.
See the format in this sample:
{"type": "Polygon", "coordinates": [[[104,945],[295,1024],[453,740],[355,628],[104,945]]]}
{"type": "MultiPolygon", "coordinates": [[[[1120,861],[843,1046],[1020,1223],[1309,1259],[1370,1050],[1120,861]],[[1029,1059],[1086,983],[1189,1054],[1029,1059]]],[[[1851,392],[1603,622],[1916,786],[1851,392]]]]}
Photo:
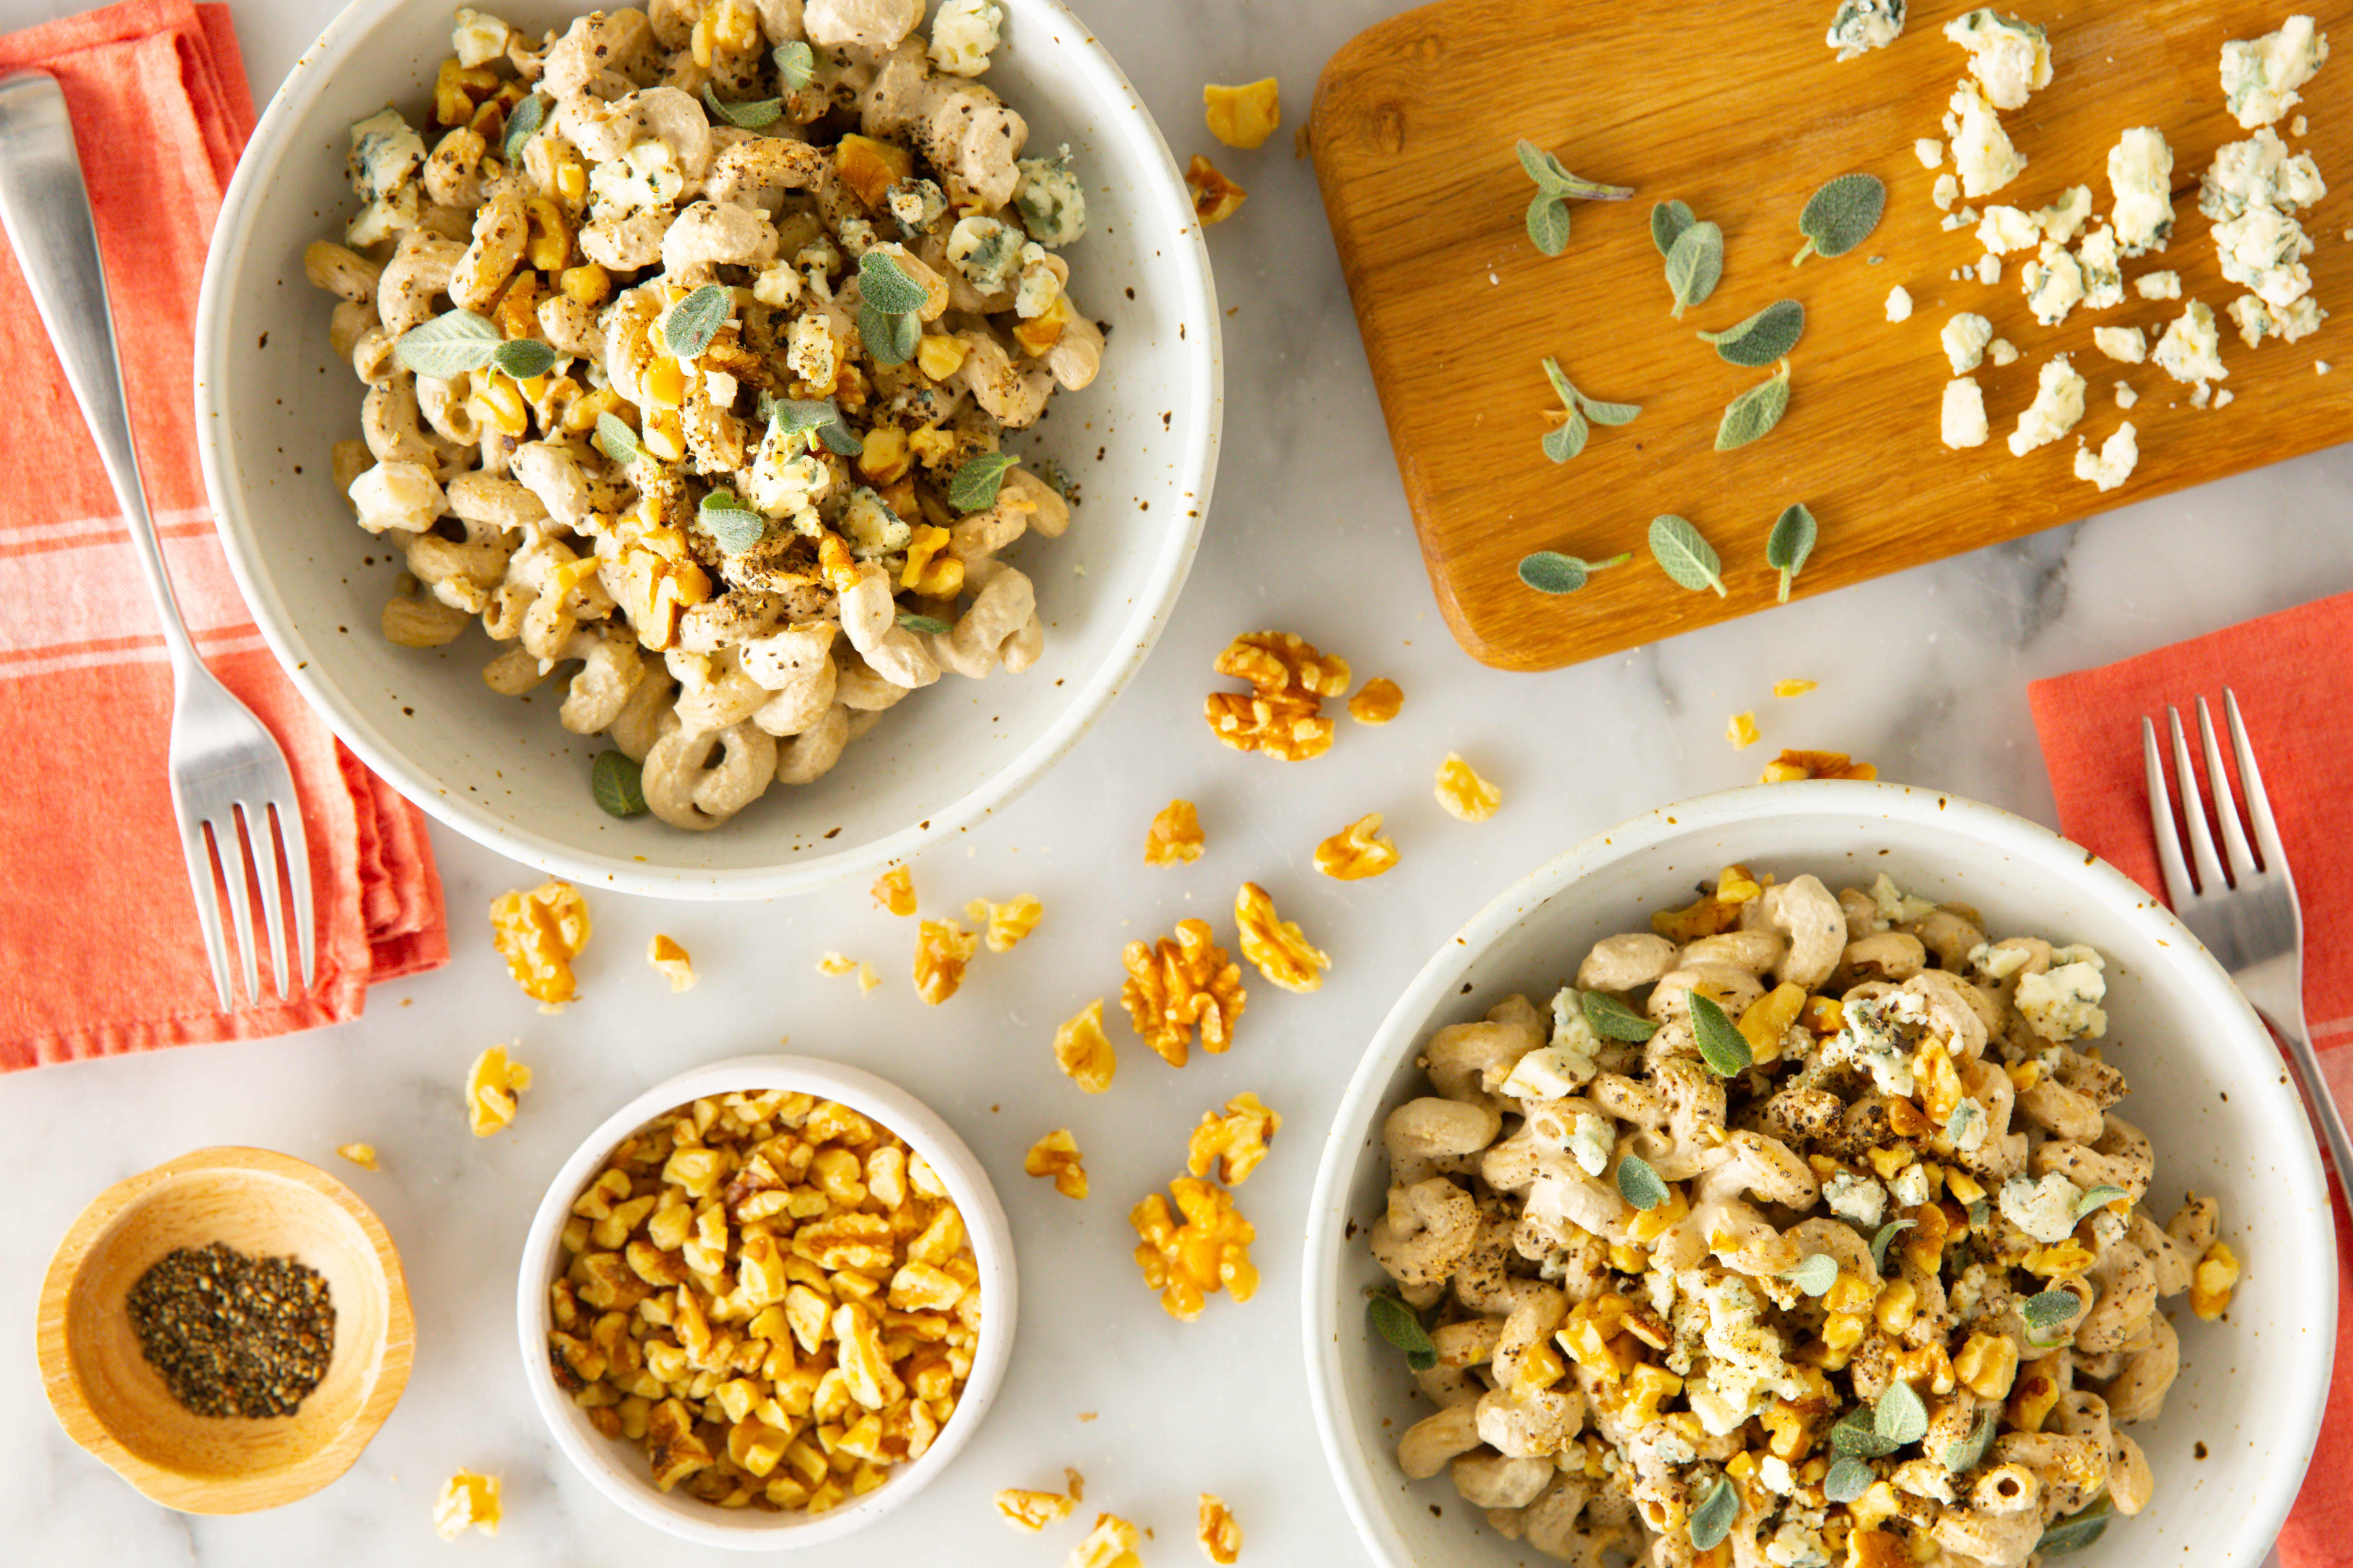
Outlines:
{"type": "MultiPolygon", "coordinates": [[[[336,494],[327,449],[360,430],[360,383],[327,350],[301,252],[351,209],[346,127],[426,103],[454,0],[353,0],[271,99],[205,263],[195,327],[205,489],[238,588],[301,693],[367,766],[501,853],[584,884],[668,898],[767,898],[880,870],[988,816],[1045,773],[1151,651],[1200,541],[1221,414],[1209,259],[1176,162],[1104,47],[1059,0],[1002,0],[988,71],[1033,148],[1071,146],[1089,233],[1073,296],[1106,322],[1104,374],[1056,393],[1016,447],[1054,456],[1082,503],[1061,541],[1026,538],[1045,658],[1014,677],[946,677],[814,785],[772,785],[715,832],[616,820],[588,792],[602,738],[567,733],[548,691],[482,684],[494,644],[388,644],[376,616],[398,559],[336,494]],[[1096,456],[1101,451],[1101,456],[1096,456]],[[369,564],[372,562],[372,564],[369,564]],[[1085,574],[1078,567],[1085,564],[1085,574]]],[[[499,7],[560,26],[586,0],[499,7]]]]}

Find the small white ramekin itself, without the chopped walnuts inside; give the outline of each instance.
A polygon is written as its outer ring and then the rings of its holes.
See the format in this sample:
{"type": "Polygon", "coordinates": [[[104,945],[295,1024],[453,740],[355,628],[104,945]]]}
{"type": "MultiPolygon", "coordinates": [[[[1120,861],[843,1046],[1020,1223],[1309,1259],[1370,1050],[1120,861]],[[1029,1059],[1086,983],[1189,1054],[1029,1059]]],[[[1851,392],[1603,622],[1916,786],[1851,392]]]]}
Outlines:
{"type": "Polygon", "coordinates": [[[680,1072],[675,1079],[654,1084],[642,1095],[607,1117],[581,1147],[572,1152],[548,1194],[532,1215],[529,1239],[522,1244],[522,1267],[515,1276],[515,1326],[522,1338],[522,1382],[532,1389],[532,1403],[555,1434],[555,1446],[626,1514],[666,1530],[678,1540],[701,1547],[734,1547],[744,1552],[786,1552],[793,1547],[816,1547],[840,1540],[892,1509],[908,1502],[929,1486],[939,1472],[955,1462],[958,1450],[972,1441],[988,1406],[1005,1382],[1005,1363],[1014,1354],[1014,1324],[1019,1321],[1019,1279],[1014,1272],[1014,1234],[1005,1222],[998,1192],[981,1171],[979,1157],[955,1131],[939,1119],[922,1100],[894,1084],[885,1084],[871,1072],[816,1060],[812,1056],[739,1056],[708,1067],[680,1072]],[[562,1229],[572,1215],[572,1201],[598,1173],[614,1145],[635,1133],[666,1110],[699,1100],[701,1095],[758,1093],[762,1088],[793,1088],[826,1100],[840,1100],[849,1110],[871,1117],[899,1133],[911,1150],[932,1161],[948,1197],[955,1199],[965,1218],[965,1234],[972,1241],[972,1258],[981,1272],[981,1342],[972,1356],[972,1375],[955,1401],[955,1413],[941,1427],[932,1448],[913,1465],[899,1465],[889,1481],[854,1497],[826,1514],[769,1514],[762,1509],[720,1509],[685,1493],[664,1493],[654,1486],[645,1467],[645,1450],[621,1443],[588,1425],[588,1413],[555,1387],[548,1373],[548,1331],[553,1328],[548,1286],[562,1274],[562,1229]]]}

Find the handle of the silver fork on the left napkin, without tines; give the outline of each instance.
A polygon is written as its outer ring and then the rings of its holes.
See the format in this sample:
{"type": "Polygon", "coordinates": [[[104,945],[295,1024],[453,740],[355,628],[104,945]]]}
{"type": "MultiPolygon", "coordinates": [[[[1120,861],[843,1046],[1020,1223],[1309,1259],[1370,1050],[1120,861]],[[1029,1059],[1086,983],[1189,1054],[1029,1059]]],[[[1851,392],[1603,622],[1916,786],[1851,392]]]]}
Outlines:
{"type": "Polygon", "coordinates": [[[66,367],[66,381],[99,444],[99,461],[122,503],[148,592],[162,611],[172,665],[198,665],[139,477],[115,320],[106,303],[106,268],[99,261],[82,160],[73,148],[73,120],[56,78],[42,71],[0,75],[0,230],[16,247],[33,306],[49,329],[49,343],[66,367]]]}

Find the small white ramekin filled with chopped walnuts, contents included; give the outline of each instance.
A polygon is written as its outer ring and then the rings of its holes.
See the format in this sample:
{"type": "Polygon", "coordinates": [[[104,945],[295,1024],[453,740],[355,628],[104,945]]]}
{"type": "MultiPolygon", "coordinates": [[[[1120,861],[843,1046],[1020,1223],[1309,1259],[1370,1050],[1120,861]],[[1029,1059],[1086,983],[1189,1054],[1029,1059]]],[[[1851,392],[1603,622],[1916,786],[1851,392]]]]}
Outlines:
{"type": "Polygon", "coordinates": [[[736,1058],[581,1143],[515,1305],[532,1399],[607,1497],[699,1544],[800,1547],[972,1439],[1012,1354],[1012,1232],[906,1091],[736,1058]]]}

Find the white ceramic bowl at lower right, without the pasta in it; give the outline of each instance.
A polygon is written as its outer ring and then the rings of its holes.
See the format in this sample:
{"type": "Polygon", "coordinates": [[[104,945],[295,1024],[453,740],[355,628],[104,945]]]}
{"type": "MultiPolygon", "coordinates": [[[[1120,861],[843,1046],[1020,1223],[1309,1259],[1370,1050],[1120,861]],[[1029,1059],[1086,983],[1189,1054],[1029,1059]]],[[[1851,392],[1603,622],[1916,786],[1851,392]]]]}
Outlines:
{"type": "Polygon", "coordinates": [[[1993,806],[1873,783],[1727,790],[1586,839],[1487,905],[1391,1009],[1325,1145],[1304,1269],[1315,1420],[1374,1561],[1548,1561],[1487,1530],[1442,1472],[1412,1483],[1395,1462],[1398,1434],[1431,1406],[1365,1326],[1365,1286],[1386,1276],[1362,1229],[1388,1182],[1381,1121],[1421,1093],[1417,1051],[1431,1030],[1515,990],[1544,1006],[1593,940],[1645,929],[1652,910],[1689,903],[1694,884],[1734,860],[1817,872],[1831,886],[1887,872],[1906,891],[1977,905],[1988,931],[2089,943],[2108,957],[2101,1044],[2132,1081],[2125,1112],[2155,1143],[2155,1187],[2219,1194],[2247,1274],[2224,1321],[2177,1319],[2181,1380],[2162,1420],[2132,1427],[2155,1500],[2071,1561],[2264,1561],[2311,1460],[2337,1328],[2327,1187],[2278,1048],[2172,912],[2080,844],[1993,806]]]}

